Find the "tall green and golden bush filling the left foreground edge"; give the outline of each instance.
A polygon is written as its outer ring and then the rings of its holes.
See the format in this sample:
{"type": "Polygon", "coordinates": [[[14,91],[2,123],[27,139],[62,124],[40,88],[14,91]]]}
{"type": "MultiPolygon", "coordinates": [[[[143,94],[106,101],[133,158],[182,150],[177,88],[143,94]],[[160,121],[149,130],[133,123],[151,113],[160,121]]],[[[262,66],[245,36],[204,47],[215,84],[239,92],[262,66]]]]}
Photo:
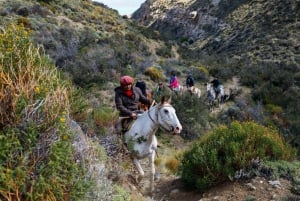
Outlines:
{"type": "Polygon", "coordinates": [[[80,200],[88,182],[65,126],[71,82],[22,26],[5,27],[0,50],[1,200],[80,200]]]}

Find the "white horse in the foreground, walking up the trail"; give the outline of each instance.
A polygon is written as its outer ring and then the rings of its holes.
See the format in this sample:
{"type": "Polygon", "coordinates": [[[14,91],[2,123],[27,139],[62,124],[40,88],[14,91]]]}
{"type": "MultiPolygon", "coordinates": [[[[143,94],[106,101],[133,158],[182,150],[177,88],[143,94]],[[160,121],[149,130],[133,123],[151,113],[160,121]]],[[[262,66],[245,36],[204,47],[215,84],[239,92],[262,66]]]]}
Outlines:
{"type": "Polygon", "coordinates": [[[165,101],[165,98],[162,97],[159,104],[151,107],[147,112],[139,116],[130,130],[125,133],[125,142],[140,174],[139,181],[145,175],[139,160],[146,157],[149,159],[151,192],[154,190],[154,159],[157,149],[155,133],[159,127],[173,133],[180,133],[182,130],[175,109],[171,105],[171,99],[165,101]]]}

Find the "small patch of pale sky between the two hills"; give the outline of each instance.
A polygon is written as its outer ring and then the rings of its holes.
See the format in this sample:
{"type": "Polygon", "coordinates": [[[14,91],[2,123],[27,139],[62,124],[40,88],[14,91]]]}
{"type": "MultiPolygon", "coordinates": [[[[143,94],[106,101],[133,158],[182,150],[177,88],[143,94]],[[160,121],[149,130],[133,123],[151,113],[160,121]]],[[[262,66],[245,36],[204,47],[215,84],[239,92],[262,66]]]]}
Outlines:
{"type": "Polygon", "coordinates": [[[94,0],[118,10],[120,15],[131,15],[146,0],[94,0]]]}

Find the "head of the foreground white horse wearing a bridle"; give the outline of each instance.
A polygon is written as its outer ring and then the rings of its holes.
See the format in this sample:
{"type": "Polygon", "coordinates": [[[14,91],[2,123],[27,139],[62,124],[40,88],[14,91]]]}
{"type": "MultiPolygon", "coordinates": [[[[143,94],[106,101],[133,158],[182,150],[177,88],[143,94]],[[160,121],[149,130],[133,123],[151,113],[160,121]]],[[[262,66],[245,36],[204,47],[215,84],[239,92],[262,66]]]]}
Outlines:
{"type": "Polygon", "coordinates": [[[157,105],[157,120],[160,126],[169,132],[180,133],[182,130],[176,111],[171,105],[171,98],[165,101],[165,97],[162,97],[161,102],[157,105]]]}

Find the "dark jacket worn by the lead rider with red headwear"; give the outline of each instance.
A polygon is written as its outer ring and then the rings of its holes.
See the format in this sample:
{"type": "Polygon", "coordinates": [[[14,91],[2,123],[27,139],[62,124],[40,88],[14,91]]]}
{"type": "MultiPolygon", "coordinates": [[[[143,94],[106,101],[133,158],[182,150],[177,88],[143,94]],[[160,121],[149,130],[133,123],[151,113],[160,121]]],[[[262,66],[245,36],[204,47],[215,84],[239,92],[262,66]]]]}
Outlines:
{"type": "Polygon", "coordinates": [[[149,99],[147,99],[142,91],[138,87],[132,87],[132,97],[126,96],[121,87],[115,88],[115,104],[120,112],[120,116],[131,116],[132,112],[138,110],[138,103],[141,102],[145,105],[151,105],[149,99]]]}

